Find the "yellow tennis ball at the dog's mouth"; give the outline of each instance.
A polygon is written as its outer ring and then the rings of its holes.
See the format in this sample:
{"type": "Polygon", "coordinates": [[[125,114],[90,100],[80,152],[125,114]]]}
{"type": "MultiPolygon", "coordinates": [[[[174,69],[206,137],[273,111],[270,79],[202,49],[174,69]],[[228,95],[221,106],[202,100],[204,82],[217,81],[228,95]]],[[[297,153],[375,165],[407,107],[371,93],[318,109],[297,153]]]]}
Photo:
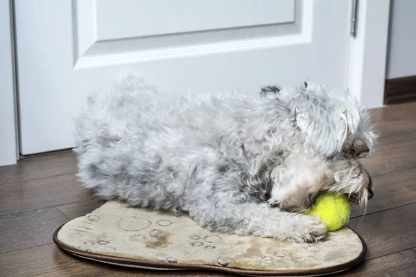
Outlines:
{"type": "Polygon", "coordinates": [[[306,215],[320,215],[320,219],[327,224],[328,231],[336,231],[347,224],[351,207],[347,195],[320,193],[316,197],[315,206],[306,215]]]}

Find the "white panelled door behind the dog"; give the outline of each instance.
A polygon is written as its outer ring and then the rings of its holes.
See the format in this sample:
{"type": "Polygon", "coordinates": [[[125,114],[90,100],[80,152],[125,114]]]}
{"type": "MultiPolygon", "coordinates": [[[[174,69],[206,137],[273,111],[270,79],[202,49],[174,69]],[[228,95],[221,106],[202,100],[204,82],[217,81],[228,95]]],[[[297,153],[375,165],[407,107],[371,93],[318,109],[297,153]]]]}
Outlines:
{"type": "Polygon", "coordinates": [[[347,87],[351,2],[15,0],[21,153],[73,147],[87,95],[128,73],[168,93],[347,87]]]}

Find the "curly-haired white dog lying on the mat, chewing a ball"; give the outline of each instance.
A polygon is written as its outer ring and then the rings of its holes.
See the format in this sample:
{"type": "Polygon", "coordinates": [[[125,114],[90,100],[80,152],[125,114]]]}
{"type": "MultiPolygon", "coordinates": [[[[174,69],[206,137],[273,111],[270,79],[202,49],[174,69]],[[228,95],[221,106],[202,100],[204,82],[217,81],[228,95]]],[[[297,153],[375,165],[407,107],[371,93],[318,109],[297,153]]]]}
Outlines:
{"type": "Polygon", "coordinates": [[[79,177],[101,199],[188,213],[211,231],[313,242],[326,225],[300,212],[324,190],[372,197],[357,159],[367,111],[306,84],[253,96],[165,96],[142,82],[95,93],[77,121],[79,177]]]}

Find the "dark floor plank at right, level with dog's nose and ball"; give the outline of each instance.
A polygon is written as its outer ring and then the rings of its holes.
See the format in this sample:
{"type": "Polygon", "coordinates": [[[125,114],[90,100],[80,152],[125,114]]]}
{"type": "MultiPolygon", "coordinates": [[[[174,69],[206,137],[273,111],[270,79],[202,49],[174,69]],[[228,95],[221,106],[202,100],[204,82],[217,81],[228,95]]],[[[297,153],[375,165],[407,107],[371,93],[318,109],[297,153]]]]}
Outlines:
{"type": "MultiPolygon", "coordinates": [[[[367,214],[416,202],[416,168],[379,175],[372,180],[374,197],[369,201],[367,214]]],[[[353,206],[351,217],[363,213],[353,206]]]]}

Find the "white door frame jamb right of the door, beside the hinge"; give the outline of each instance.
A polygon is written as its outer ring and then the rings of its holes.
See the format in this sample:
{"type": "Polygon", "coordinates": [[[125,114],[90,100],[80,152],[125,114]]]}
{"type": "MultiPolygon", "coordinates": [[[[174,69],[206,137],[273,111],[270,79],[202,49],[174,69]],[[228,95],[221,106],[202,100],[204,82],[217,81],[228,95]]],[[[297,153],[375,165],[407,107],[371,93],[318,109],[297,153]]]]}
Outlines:
{"type": "Polygon", "coordinates": [[[356,37],[350,38],[349,91],[362,105],[383,107],[390,0],[358,1],[356,37]]]}

